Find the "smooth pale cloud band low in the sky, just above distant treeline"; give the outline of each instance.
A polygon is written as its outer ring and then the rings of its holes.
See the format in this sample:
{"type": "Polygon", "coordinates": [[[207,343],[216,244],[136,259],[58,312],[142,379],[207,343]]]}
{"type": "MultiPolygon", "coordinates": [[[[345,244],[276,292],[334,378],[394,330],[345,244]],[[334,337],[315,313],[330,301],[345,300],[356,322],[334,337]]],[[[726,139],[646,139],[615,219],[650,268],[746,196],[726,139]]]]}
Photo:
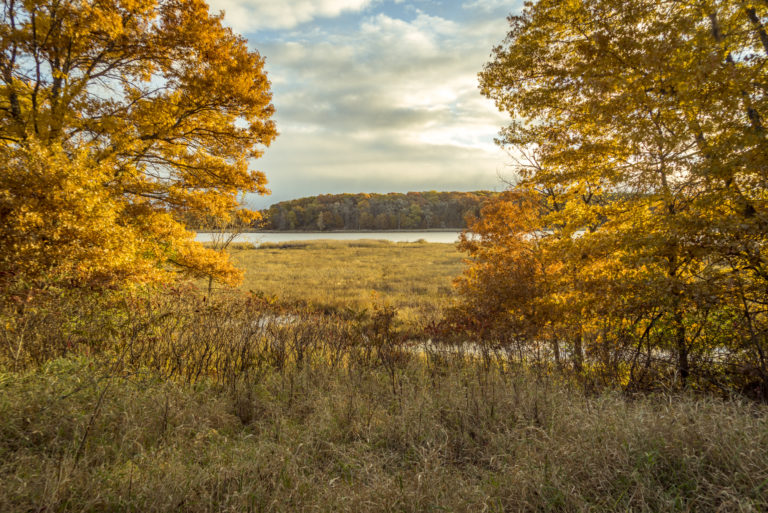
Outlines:
{"type": "Polygon", "coordinates": [[[355,141],[351,149],[341,135],[305,137],[293,132],[281,139],[259,161],[272,195],[250,197],[254,208],[321,193],[502,190],[499,176],[510,176],[500,150],[380,139],[355,141]]]}

